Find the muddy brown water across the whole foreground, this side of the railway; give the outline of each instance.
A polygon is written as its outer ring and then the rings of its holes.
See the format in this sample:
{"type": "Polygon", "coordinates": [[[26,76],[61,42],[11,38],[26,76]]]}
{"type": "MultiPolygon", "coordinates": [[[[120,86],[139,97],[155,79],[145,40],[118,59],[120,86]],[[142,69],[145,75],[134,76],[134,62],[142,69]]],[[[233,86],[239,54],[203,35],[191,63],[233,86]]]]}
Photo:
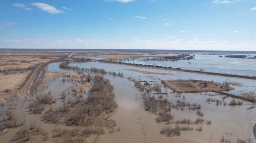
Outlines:
{"type": "MultiPolygon", "coordinates": [[[[76,64],[74,64],[76,65],[76,64]]],[[[156,70],[156,69],[143,69],[140,70],[148,70],[153,72],[171,72],[174,75],[154,75],[154,74],[141,74],[137,72],[127,71],[123,69],[132,69],[136,67],[131,66],[122,66],[117,64],[108,64],[108,63],[97,63],[97,62],[89,62],[89,63],[79,63],[80,67],[97,67],[104,68],[106,71],[115,71],[115,72],[124,72],[126,77],[134,77],[136,80],[154,80],[158,81],[159,79],[169,79],[169,78],[206,78],[205,80],[215,79],[218,82],[225,80],[220,76],[206,76],[206,75],[198,75],[191,73],[180,73],[175,71],[165,71],[165,70],[156,70]],[[126,71],[126,72],[125,72],[126,71]]],[[[61,72],[73,72],[69,70],[59,69],[59,63],[51,63],[48,65],[48,70],[52,71],[61,71],[61,72]]],[[[205,120],[211,120],[211,125],[202,125],[203,131],[198,132],[195,130],[198,125],[189,125],[189,127],[194,127],[193,131],[181,131],[180,136],[174,137],[166,137],[165,135],[160,134],[160,130],[162,127],[165,127],[165,123],[156,123],[156,114],[147,112],[143,109],[141,92],[139,92],[135,87],[132,81],[128,81],[126,78],[119,78],[106,75],[105,78],[109,79],[111,84],[114,86],[116,98],[115,100],[118,103],[117,111],[111,117],[116,121],[117,127],[120,127],[119,132],[114,133],[106,133],[100,135],[96,141],[99,143],[130,143],[130,142],[139,142],[139,143],[191,143],[191,142],[199,142],[199,143],[216,143],[219,142],[221,136],[224,135],[225,139],[230,139],[232,142],[235,142],[237,138],[240,139],[254,139],[253,136],[253,125],[256,123],[256,112],[255,109],[246,110],[248,107],[251,107],[252,103],[247,101],[243,101],[242,106],[224,106],[224,105],[215,105],[215,103],[208,104],[206,103],[206,98],[217,98],[221,99],[221,95],[213,95],[212,92],[208,93],[184,93],[181,94],[181,97],[176,97],[176,94],[168,94],[163,95],[163,98],[167,98],[172,103],[175,103],[176,100],[182,101],[182,96],[185,96],[185,101],[190,103],[199,103],[202,105],[201,111],[204,112],[205,120]],[[211,135],[213,134],[213,138],[211,139],[211,135]],[[232,135],[230,135],[232,134],[232,135]]],[[[246,83],[250,85],[253,83],[251,80],[247,79],[236,79],[230,78],[230,81],[240,81],[240,83],[246,83]]],[[[255,82],[255,81],[254,81],[255,82]]],[[[52,104],[54,107],[58,107],[61,105],[61,99],[59,99],[59,95],[62,91],[68,91],[72,88],[72,83],[65,82],[63,83],[61,79],[57,79],[56,81],[51,81],[48,84],[47,89],[45,89],[44,93],[47,93],[50,90],[54,97],[56,97],[57,101],[55,104],[52,104]]],[[[162,91],[165,91],[165,87],[162,85],[162,91]]],[[[236,87],[235,87],[236,88],[236,87]]],[[[250,90],[255,90],[253,87],[249,88],[250,90]]],[[[168,93],[172,92],[171,89],[166,89],[168,93]]],[[[245,87],[238,89],[235,92],[239,91],[245,92],[245,87]]],[[[248,87],[247,87],[248,90],[248,87]]],[[[157,95],[156,95],[157,96],[157,95]]],[[[228,103],[232,98],[226,98],[225,101],[228,103]]],[[[35,120],[36,123],[42,125],[42,127],[50,133],[55,127],[64,127],[62,125],[54,125],[49,123],[44,123],[41,120],[41,114],[29,114],[28,113],[28,105],[30,101],[17,101],[17,106],[15,109],[15,113],[24,114],[26,116],[27,121],[35,120]]],[[[49,108],[50,106],[46,106],[49,108]]],[[[47,110],[47,109],[45,109],[47,110]]],[[[186,107],[184,110],[176,110],[172,109],[171,113],[174,115],[173,121],[182,118],[199,118],[196,115],[196,110],[188,110],[186,107]]],[[[174,127],[173,124],[171,126],[174,127]]],[[[180,125],[186,126],[186,125],[180,125]]],[[[13,138],[15,138],[15,133],[19,130],[16,129],[8,129],[6,134],[2,134],[0,136],[0,140],[4,142],[10,142],[13,138]]],[[[95,141],[96,136],[90,136],[86,139],[87,142],[95,141]]],[[[49,139],[46,142],[54,142],[53,139],[49,139]]]]}

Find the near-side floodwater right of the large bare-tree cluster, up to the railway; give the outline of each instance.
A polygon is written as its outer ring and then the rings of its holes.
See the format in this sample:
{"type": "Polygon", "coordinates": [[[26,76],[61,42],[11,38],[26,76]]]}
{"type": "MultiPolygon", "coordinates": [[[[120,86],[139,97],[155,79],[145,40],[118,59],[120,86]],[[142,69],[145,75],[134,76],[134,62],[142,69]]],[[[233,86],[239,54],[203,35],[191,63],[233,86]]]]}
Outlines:
{"type": "MultiPolygon", "coordinates": [[[[59,71],[59,63],[52,63],[48,66],[49,70],[59,71]],[[57,66],[56,66],[57,64],[57,66]]],[[[215,75],[204,75],[196,74],[190,72],[177,72],[177,71],[168,71],[162,69],[151,69],[144,67],[133,67],[129,65],[113,64],[113,63],[100,63],[100,62],[85,62],[85,63],[72,63],[72,66],[79,67],[96,67],[104,68],[106,71],[115,71],[123,72],[125,77],[132,77],[136,80],[167,80],[167,79],[188,79],[193,78],[197,80],[214,80],[217,82],[239,82],[242,84],[241,87],[233,86],[234,91],[229,91],[233,94],[241,94],[249,91],[256,91],[253,86],[255,80],[243,79],[243,78],[234,78],[234,77],[224,77],[224,76],[215,76],[215,75]],[[150,72],[163,72],[171,73],[172,75],[154,75],[154,74],[141,74],[139,72],[127,71],[126,69],[138,69],[141,71],[150,71],[150,72]],[[248,86],[250,85],[250,86],[248,86]]],[[[61,69],[62,70],[62,69],[61,69]]],[[[67,72],[67,71],[66,71],[67,72]]],[[[73,71],[70,71],[73,72],[73,71]]],[[[204,113],[204,118],[212,122],[211,125],[202,125],[203,131],[197,132],[195,130],[198,125],[190,125],[194,127],[193,131],[182,131],[180,136],[166,137],[160,134],[162,127],[166,126],[164,123],[156,123],[156,115],[150,112],[146,112],[143,109],[141,102],[141,93],[134,88],[134,83],[128,81],[126,78],[119,78],[106,75],[105,78],[109,79],[111,84],[115,88],[116,101],[118,103],[118,108],[116,113],[112,118],[116,121],[117,127],[121,128],[121,131],[114,132],[112,134],[106,133],[101,135],[98,139],[99,142],[145,142],[145,143],[154,143],[154,142],[209,142],[215,143],[219,142],[221,136],[224,135],[225,139],[229,139],[233,142],[236,139],[254,139],[252,134],[252,127],[256,121],[256,111],[255,109],[247,108],[252,106],[252,103],[243,101],[242,106],[228,106],[228,105],[216,105],[213,103],[206,103],[206,98],[213,98],[221,100],[222,95],[213,95],[211,92],[207,93],[184,93],[180,97],[176,97],[174,94],[164,95],[164,98],[167,98],[172,103],[176,103],[176,100],[181,100],[182,96],[185,96],[185,101],[190,103],[198,103],[202,105],[201,111],[204,113]],[[213,134],[213,138],[211,136],[213,134]]],[[[162,91],[165,88],[162,87],[162,91]]],[[[171,89],[166,89],[168,93],[171,92],[171,89]]],[[[226,98],[225,101],[228,103],[233,98],[226,98]]],[[[237,100],[237,99],[236,99],[237,100]]],[[[238,100],[237,100],[238,101],[238,100]]],[[[196,114],[197,110],[189,110],[187,107],[184,107],[184,110],[173,109],[171,114],[174,114],[174,121],[178,119],[188,118],[196,119],[199,118],[196,114]]],[[[174,125],[172,125],[174,127],[174,125]]],[[[182,126],[182,125],[181,125],[182,126]]]]}

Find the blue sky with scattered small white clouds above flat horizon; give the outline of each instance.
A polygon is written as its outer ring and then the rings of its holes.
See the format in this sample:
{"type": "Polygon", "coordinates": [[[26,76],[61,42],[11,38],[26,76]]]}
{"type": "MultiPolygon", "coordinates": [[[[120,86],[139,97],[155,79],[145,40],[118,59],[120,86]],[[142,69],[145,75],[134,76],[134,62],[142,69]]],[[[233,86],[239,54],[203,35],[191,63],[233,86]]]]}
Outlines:
{"type": "Polygon", "coordinates": [[[256,51],[256,0],[1,0],[0,48],[256,51]]]}

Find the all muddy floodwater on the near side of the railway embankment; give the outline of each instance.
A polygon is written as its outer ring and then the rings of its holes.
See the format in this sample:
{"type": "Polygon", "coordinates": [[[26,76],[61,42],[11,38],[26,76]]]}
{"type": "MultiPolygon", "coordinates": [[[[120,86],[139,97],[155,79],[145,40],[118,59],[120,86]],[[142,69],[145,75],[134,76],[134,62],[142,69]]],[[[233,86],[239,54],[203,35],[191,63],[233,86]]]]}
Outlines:
{"type": "MultiPolygon", "coordinates": [[[[71,74],[77,73],[77,71],[59,68],[60,63],[61,62],[50,63],[46,69],[49,71],[59,71],[71,74]]],[[[108,118],[115,121],[115,126],[118,128],[118,131],[105,132],[105,134],[99,136],[91,135],[85,139],[85,141],[89,143],[113,143],[120,141],[123,143],[130,143],[131,141],[141,143],[216,143],[220,142],[222,138],[231,142],[236,142],[237,139],[251,139],[253,143],[256,142],[253,135],[253,126],[256,123],[256,111],[254,108],[251,108],[254,105],[253,103],[227,97],[226,95],[216,94],[214,92],[177,94],[174,93],[172,89],[161,84],[161,80],[169,79],[213,80],[219,83],[229,81],[240,84],[230,85],[234,87],[234,90],[225,92],[240,95],[247,92],[256,92],[254,80],[100,62],[70,63],[70,66],[103,68],[108,72],[122,72],[124,75],[124,78],[121,78],[110,74],[103,74],[104,78],[108,79],[114,87],[115,101],[118,104],[118,107],[108,118]],[[143,92],[139,91],[139,89],[134,86],[134,82],[130,79],[142,81],[141,84],[145,83],[143,81],[150,81],[150,86],[153,86],[155,83],[160,85],[160,92],[162,94],[158,94],[156,91],[150,91],[149,94],[156,99],[167,99],[167,101],[174,105],[171,110],[171,114],[174,118],[171,119],[169,125],[166,122],[156,122],[158,115],[154,112],[145,110],[143,101],[143,98],[145,97],[142,96],[143,92]],[[220,102],[216,104],[216,100],[220,102]],[[232,100],[241,101],[243,104],[239,106],[229,106],[228,104],[231,103],[232,100]],[[180,102],[189,103],[191,105],[196,103],[197,105],[200,105],[200,112],[202,115],[199,116],[197,114],[198,111],[190,109],[190,106],[187,107],[184,105],[184,107],[175,108],[175,105],[180,102]],[[204,119],[204,122],[199,124],[192,123],[198,118],[204,119]],[[177,123],[182,119],[189,119],[191,124],[177,123]],[[211,122],[210,125],[208,125],[208,121],[211,122]],[[194,130],[180,131],[179,136],[171,137],[160,134],[163,127],[170,126],[174,128],[177,125],[179,127],[190,127],[194,130]],[[202,128],[202,131],[197,131],[199,127],[202,128]]],[[[84,74],[89,73],[85,72],[84,74]]],[[[96,75],[93,72],[90,74],[92,76],[96,75]]],[[[56,99],[55,103],[45,105],[45,109],[41,114],[31,114],[29,106],[32,101],[20,100],[18,97],[13,97],[13,101],[4,104],[0,109],[2,113],[11,109],[14,114],[24,118],[27,124],[34,122],[36,125],[40,125],[44,132],[48,132],[48,134],[40,136],[35,134],[29,141],[56,142],[58,139],[56,140],[56,138],[53,138],[56,134],[54,130],[67,130],[74,129],[75,127],[48,123],[43,120],[43,114],[50,108],[58,109],[63,105],[63,99],[61,98],[63,92],[67,95],[66,99],[75,99],[75,96],[72,96],[71,94],[75,86],[76,82],[68,81],[67,77],[60,77],[50,81],[45,89],[34,95],[34,98],[37,98],[37,96],[42,96],[43,94],[51,94],[53,98],[56,99]],[[63,79],[66,80],[63,81],[63,79]]],[[[84,99],[89,95],[90,93],[88,92],[82,93],[84,99]]],[[[4,116],[0,117],[1,120],[3,117],[4,116]]],[[[17,135],[17,132],[21,128],[22,127],[5,129],[1,133],[0,139],[4,142],[11,143],[22,141],[17,135]]]]}

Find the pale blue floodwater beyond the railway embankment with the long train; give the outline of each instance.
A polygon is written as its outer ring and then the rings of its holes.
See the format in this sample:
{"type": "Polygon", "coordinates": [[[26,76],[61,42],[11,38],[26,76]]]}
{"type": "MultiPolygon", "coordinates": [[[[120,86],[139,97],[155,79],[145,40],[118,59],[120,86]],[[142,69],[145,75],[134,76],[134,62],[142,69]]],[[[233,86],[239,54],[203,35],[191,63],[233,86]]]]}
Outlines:
{"type": "MultiPolygon", "coordinates": [[[[251,54],[255,56],[256,54],[251,54]]],[[[127,63],[139,63],[164,67],[174,67],[199,71],[203,69],[208,72],[256,76],[256,59],[221,58],[219,55],[195,54],[195,59],[178,61],[142,61],[141,59],[124,61],[127,63]],[[191,62],[191,63],[189,63],[191,62]]]]}

